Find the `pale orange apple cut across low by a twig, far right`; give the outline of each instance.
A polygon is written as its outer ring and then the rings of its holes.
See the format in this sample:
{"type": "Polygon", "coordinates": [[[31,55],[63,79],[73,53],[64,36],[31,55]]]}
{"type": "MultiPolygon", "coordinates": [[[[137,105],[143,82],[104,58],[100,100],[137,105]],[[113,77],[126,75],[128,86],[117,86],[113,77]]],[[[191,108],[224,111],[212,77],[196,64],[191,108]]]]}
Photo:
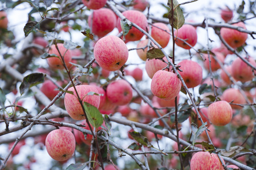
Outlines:
{"type": "MultiPolygon", "coordinates": [[[[234,88],[229,88],[226,89],[222,95],[221,95],[221,100],[227,101],[227,102],[232,102],[236,104],[245,104],[246,100],[243,96],[243,94],[238,90],[234,88]]],[[[232,109],[243,109],[241,106],[230,104],[232,109]]]]}

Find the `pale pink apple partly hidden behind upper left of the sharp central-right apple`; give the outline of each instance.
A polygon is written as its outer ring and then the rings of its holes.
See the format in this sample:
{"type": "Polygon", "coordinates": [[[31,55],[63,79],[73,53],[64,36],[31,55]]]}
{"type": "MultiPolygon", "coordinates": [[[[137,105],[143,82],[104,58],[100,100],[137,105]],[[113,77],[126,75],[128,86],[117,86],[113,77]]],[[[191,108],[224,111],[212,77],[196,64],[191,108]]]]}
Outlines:
{"type": "MultiPolygon", "coordinates": [[[[168,62],[166,57],[164,57],[163,59],[165,60],[165,62],[168,62]]],[[[167,63],[165,63],[165,62],[162,61],[161,59],[146,60],[145,69],[146,69],[147,75],[152,79],[158,70],[161,70],[167,66],[167,63]]],[[[167,71],[168,69],[165,68],[165,70],[167,71]]]]}

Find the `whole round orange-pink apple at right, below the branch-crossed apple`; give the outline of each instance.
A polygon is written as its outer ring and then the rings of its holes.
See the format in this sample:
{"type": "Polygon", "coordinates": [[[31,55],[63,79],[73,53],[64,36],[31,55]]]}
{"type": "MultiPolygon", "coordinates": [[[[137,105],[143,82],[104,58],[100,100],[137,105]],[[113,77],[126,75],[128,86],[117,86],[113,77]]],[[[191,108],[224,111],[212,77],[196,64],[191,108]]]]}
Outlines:
{"type": "Polygon", "coordinates": [[[213,102],[208,107],[208,118],[215,126],[227,125],[233,116],[230,104],[226,101],[213,102]]]}

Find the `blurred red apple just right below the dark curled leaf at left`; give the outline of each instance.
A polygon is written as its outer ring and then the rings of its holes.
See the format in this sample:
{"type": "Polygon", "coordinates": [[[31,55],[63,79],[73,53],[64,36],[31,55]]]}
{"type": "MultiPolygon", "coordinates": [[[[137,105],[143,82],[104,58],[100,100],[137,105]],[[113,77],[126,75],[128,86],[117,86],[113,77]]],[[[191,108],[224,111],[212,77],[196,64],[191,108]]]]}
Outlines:
{"type": "Polygon", "coordinates": [[[41,92],[43,92],[46,97],[48,97],[50,100],[53,100],[55,96],[60,92],[58,90],[58,87],[51,81],[51,80],[46,80],[41,88],[41,92]]]}

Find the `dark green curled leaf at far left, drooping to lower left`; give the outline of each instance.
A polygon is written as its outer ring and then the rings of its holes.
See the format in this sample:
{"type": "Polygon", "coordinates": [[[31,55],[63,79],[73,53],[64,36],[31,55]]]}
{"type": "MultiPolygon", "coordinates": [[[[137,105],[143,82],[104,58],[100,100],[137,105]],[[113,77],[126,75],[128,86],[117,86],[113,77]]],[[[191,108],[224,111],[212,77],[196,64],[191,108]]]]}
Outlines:
{"type": "Polygon", "coordinates": [[[34,85],[43,83],[45,81],[44,77],[45,75],[43,73],[32,73],[30,75],[25,76],[23,78],[22,83],[19,86],[20,94],[27,92],[27,90],[34,85]]]}

